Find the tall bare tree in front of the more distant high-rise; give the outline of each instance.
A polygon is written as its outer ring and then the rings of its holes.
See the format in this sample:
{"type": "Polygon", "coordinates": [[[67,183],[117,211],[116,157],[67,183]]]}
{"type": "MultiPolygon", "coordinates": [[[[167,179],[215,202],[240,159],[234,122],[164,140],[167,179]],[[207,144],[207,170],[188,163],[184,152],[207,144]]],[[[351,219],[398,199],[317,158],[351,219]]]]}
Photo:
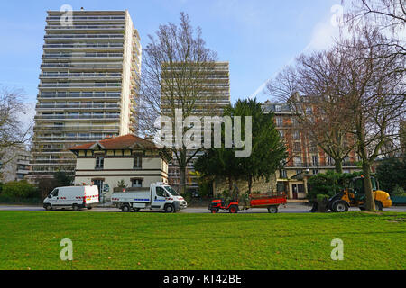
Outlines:
{"type": "MultiPolygon", "coordinates": [[[[143,69],[140,83],[138,129],[144,135],[157,135],[162,124],[160,117],[169,117],[172,123],[181,112],[181,121],[188,116],[209,116],[208,94],[213,93],[210,72],[217,55],[206,48],[200,28],[190,25],[189,16],[180,14],[180,25],[161,25],[150,43],[143,49],[143,69]]],[[[182,135],[188,127],[182,127],[182,135]]],[[[175,130],[173,139],[175,139],[175,130]]],[[[187,166],[199,148],[190,151],[183,140],[179,145],[167,147],[173,154],[172,163],[180,169],[180,189],[184,193],[187,166]]]]}

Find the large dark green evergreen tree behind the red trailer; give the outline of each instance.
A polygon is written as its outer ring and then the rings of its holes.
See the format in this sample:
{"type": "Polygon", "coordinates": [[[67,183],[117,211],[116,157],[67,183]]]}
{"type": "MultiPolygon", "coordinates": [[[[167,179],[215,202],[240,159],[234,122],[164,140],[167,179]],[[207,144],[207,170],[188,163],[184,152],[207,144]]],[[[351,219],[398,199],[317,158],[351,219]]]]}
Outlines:
{"type": "MultiPolygon", "coordinates": [[[[269,180],[286,158],[286,146],[275,128],[273,114],[265,114],[256,100],[238,100],[225,109],[231,118],[242,117],[241,129],[245,130],[245,116],[252,117],[252,154],[237,158],[237,148],[210,148],[195,161],[195,170],[206,177],[223,177],[245,180],[249,186],[259,178],[269,180]]],[[[243,141],[245,133],[242,133],[243,141]]],[[[223,130],[224,135],[224,130],[223,130]]]]}

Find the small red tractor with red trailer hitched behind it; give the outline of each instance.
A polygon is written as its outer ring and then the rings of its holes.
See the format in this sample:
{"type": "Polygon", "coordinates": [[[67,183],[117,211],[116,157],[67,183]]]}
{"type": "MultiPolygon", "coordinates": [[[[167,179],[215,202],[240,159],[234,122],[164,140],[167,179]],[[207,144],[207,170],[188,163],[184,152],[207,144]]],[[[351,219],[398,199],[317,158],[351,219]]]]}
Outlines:
{"type": "Polygon", "coordinates": [[[215,214],[220,210],[237,213],[251,208],[267,208],[269,213],[277,213],[278,207],[286,203],[287,197],[285,194],[260,193],[249,195],[248,200],[244,202],[231,201],[226,203],[222,199],[215,199],[208,205],[208,210],[215,214]]]}

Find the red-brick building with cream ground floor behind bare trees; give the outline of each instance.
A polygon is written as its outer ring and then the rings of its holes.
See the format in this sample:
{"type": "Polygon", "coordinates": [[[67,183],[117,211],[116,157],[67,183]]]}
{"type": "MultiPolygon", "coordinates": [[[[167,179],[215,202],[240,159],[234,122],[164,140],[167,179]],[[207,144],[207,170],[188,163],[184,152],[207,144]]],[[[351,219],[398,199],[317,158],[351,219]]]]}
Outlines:
{"type": "MultiPolygon", "coordinates": [[[[267,101],[263,103],[263,111],[274,113],[276,129],[288,151],[286,165],[277,173],[277,191],[287,193],[290,199],[304,199],[308,193],[307,179],[335,170],[334,160],[300,129],[289,104],[267,101]]],[[[351,151],[343,161],[343,172],[359,171],[358,161],[355,151],[351,151]]]]}

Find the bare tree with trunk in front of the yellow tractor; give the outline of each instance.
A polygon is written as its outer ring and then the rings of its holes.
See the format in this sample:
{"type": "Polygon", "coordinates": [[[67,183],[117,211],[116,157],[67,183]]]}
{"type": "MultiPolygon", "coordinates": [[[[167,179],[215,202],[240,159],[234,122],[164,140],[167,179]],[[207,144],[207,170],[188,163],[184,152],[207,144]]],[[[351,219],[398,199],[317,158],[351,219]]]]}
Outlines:
{"type": "Polygon", "coordinates": [[[352,118],[358,155],[363,161],[366,209],[374,210],[370,181],[371,166],[385,143],[399,137],[399,122],[406,103],[406,58],[376,29],[367,26],[346,40],[341,55],[346,58],[346,96],[352,118]],[[403,67],[403,68],[402,68],[403,67]]]}

